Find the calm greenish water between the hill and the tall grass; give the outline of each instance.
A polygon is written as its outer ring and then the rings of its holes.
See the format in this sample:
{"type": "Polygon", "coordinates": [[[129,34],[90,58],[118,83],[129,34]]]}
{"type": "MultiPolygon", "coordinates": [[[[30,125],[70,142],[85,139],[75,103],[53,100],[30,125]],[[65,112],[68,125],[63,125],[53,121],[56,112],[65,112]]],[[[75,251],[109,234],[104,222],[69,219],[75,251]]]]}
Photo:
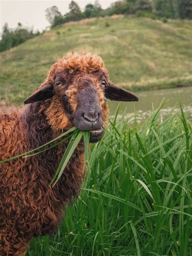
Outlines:
{"type": "MultiPolygon", "coordinates": [[[[138,113],[137,121],[141,122],[143,119],[151,115],[152,105],[158,108],[164,99],[166,105],[161,110],[161,117],[165,117],[169,113],[174,113],[179,109],[179,98],[183,105],[184,112],[190,112],[192,115],[192,87],[179,87],[162,90],[151,90],[144,92],[137,92],[139,97],[138,102],[121,102],[119,113],[121,114],[126,109],[126,116],[132,117],[134,111],[138,113]],[[173,108],[174,107],[174,108],[173,108]]],[[[109,115],[113,116],[119,102],[108,100],[109,115]]]]}

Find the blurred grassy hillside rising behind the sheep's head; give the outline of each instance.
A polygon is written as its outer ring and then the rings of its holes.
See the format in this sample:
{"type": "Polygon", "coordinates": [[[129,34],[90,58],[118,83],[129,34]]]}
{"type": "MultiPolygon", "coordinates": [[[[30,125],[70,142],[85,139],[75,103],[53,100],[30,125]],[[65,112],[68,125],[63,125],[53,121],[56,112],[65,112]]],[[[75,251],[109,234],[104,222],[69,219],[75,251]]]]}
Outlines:
{"type": "Polygon", "coordinates": [[[192,83],[191,25],[118,17],[54,28],[0,53],[0,103],[21,102],[71,50],[98,53],[111,81],[133,91],[192,83]]]}

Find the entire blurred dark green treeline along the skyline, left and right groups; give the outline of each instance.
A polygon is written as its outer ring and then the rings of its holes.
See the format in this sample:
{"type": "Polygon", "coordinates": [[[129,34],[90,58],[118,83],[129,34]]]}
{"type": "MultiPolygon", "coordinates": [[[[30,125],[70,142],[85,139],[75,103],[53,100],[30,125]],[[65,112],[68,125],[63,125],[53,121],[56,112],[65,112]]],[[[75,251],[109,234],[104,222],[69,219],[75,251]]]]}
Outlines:
{"type": "MultiPolygon", "coordinates": [[[[99,0],[94,4],[87,4],[81,11],[75,1],[69,4],[69,12],[62,15],[57,6],[51,6],[45,10],[46,19],[51,28],[68,21],[78,21],[92,17],[107,17],[114,14],[137,15],[137,17],[149,17],[151,19],[192,19],[192,0],[120,0],[116,1],[107,9],[102,9],[99,0]]],[[[23,28],[18,23],[17,28],[9,29],[6,23],[0,40],[0,51],[5,51],[17,46],[28,39],[41,34],[23,28]]]]}

